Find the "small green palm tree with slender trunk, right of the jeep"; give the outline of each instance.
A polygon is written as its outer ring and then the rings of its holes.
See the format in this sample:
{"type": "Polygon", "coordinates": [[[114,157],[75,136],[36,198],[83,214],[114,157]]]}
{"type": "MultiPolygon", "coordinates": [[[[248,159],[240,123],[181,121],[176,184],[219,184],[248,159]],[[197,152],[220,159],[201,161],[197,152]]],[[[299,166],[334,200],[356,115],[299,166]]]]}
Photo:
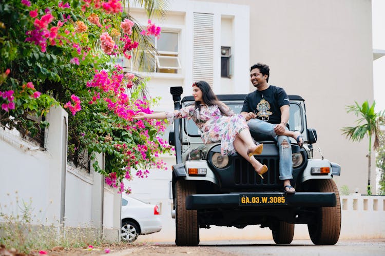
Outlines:
{"type": "Polygon", "coordinates": [[[385,111],[381,113],[376,113],[374,111],[374,106],[376,102],[374,101],[372,106],[369,105],[368,101],[365,101],[360,106],[357,102],[356,105],[347,106],[347,112],[353,112],[356,116],[360,118],[356,121],[357,126],[355,127],[343,127],[341,129],[342,134],[346,135],[352,141],[361,141],[365,135],[369,137],[369,154],[368,154],[368,194],[371,193],[370,188],[370,176],[371,176],[371,162],[372,162],[372,135],[374,135],[374,144],[373,149],[376,150],[379,146],[379,135],[381,130],[379,128],[379,122],[384,118],[385,111]]]}

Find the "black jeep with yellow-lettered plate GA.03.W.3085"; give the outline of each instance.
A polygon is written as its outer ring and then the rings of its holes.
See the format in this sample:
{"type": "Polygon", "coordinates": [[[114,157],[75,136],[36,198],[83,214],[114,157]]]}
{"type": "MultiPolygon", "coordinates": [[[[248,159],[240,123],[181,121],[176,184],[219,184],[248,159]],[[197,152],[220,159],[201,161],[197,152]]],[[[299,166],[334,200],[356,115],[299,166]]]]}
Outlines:
{"type": "MultiPolygon", "coordinates": [[[[194,104],[183,97],[182,87],[170,89],[175,109],[194,104]]],[[[242,109],[245,94],[217,95],[234,112],[242,109]]],[[[222,156],[220,143],[203,144],[192,120],[175,120],[169,143],[175,145],[177,164],[172,166],[172,195],[178,246],[197,246],[199,229],[216,226],[260,225],[272,230],[277,244],[290,244],[294,224],[307,224],[316,245],[337,243],[341,228],[341,207],[333,175],[340,166],[326,159],[313,159],[317,141],[314,129],[307,128],[304,100],[289,95],[291,130],[300,131],[303,148],[292,141],[295,194],[283,192],[279,177],[279,154],[274,141],[264,144],[256,158],[267,165],[262,180],[251,164],[238,154],[222,156]]]]}

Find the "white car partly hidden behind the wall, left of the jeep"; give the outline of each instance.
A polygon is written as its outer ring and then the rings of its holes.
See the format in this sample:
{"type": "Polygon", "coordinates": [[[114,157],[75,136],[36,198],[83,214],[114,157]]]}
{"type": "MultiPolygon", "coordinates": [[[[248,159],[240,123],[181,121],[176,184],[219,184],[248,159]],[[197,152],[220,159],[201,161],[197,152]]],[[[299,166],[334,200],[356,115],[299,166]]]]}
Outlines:
{"type": "Polygon", "coordinates": [[[162,223],[158,205],[122,195],[122,241],[133,242],[140,234],[159,232],[162,223]]]}

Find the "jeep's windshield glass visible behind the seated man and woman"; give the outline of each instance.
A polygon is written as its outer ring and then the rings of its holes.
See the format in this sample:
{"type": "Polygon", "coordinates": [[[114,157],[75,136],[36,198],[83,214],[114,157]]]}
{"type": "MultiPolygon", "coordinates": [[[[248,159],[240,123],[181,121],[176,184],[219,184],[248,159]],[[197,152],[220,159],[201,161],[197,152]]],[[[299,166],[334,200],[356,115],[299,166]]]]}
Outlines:
{"type": "MultiPolygon", "coordinates": [[[[226,105],[234,111],[234,113],[239,114],[242,110],[243,103],[230,103],[225,102],[226,105]]],[[[189,106],[194,103],[187,103],[186,106],[189,106]]],[[[291,131],[300,131],[303,132],[303,124],[302,124],[302,112],[300,105],[298,103],[292,102],[290,103],[290,119],[288,121],[289,127],[291,131]]],[[[185,133],[192,137],[200,136],[201,132],[198,129],[197,125],[192,121],[192,119],[187,120],[184,119],[184,125],[187,129],[185,129],[185,133]]]]}

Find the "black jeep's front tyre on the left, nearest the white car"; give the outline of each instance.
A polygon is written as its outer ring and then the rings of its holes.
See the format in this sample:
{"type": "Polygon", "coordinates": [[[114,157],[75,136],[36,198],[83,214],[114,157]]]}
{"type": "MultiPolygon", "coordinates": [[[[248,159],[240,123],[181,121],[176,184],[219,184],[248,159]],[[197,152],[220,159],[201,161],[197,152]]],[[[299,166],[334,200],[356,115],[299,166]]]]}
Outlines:
{"type": "Polygon", "coordinates": [[[175,184],[175,243],[178,246],[197,246],[199,244],[199,226],[196,210],[186,210],[186,196],[196,193],[194,183],[178,180],[175,184]]]}

